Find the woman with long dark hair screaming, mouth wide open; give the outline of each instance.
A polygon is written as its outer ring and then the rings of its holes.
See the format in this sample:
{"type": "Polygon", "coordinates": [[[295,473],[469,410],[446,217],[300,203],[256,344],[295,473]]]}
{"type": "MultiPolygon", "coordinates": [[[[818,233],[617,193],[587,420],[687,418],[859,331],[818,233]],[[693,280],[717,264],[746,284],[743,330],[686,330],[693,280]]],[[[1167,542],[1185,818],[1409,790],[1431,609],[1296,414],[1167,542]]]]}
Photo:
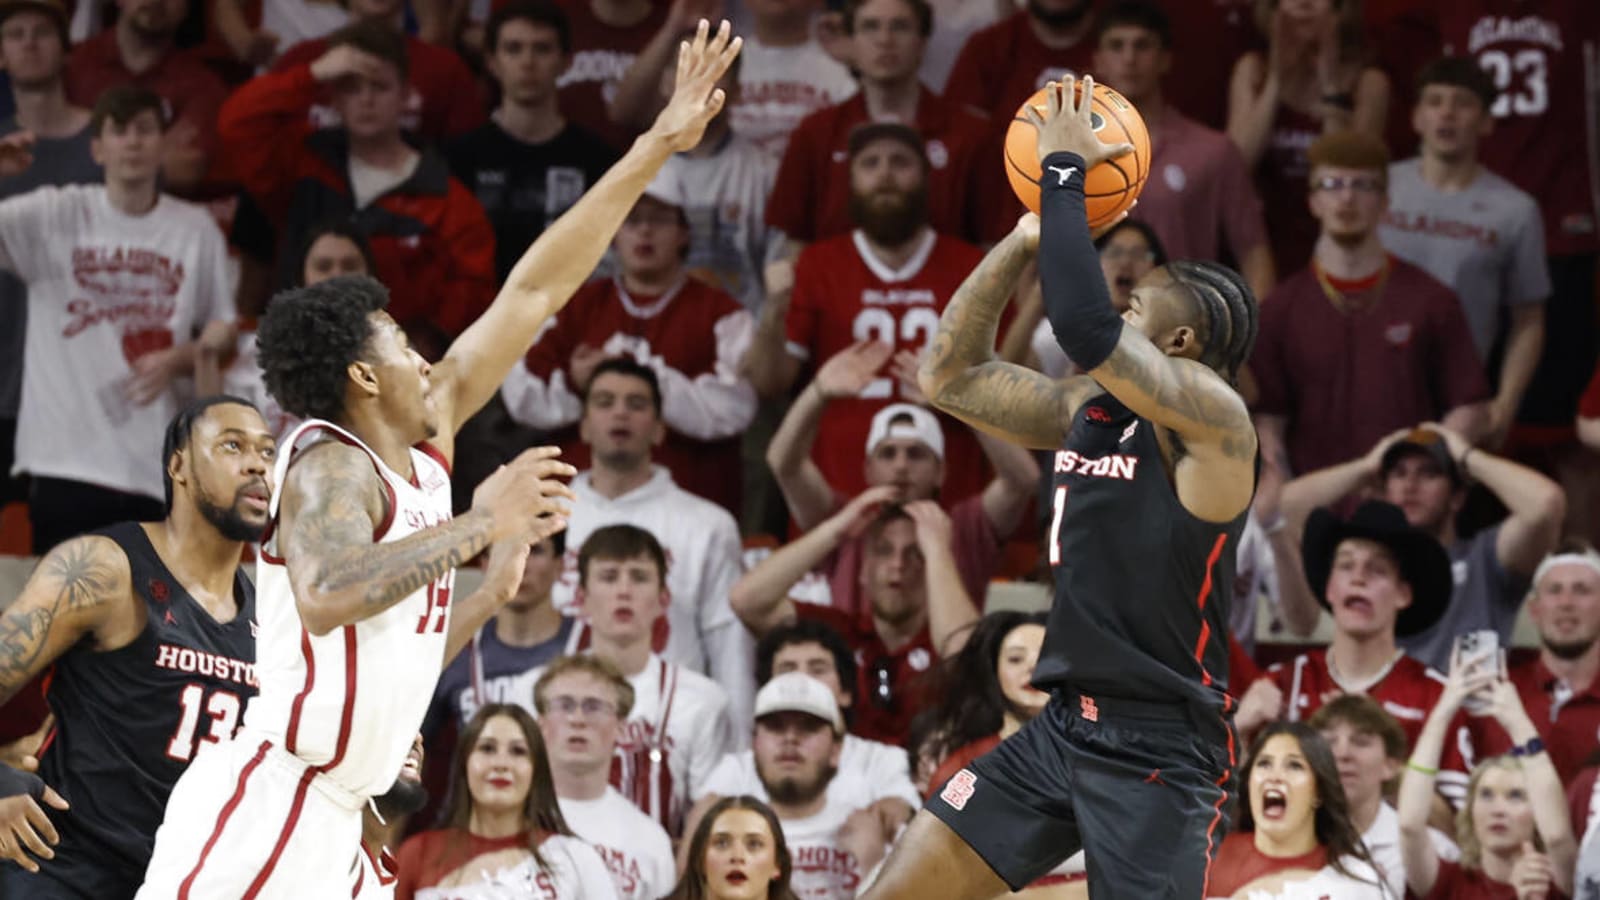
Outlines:
{"type": "Polygon", "coordinates": [[[1306,722],[1274,722],[1245,764],[1248,802],[1211,868],[1211,897],[1386,900],[1350,822],[1333,749],[1306,722]]]}

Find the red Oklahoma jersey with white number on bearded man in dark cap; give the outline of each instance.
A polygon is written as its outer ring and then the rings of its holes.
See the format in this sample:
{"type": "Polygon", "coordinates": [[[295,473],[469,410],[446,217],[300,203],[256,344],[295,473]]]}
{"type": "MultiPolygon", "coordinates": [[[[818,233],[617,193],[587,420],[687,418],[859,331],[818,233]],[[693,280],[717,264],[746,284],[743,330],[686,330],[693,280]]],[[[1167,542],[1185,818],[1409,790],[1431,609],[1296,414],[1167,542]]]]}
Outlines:
{"type": "MultiPolygon", "coordinates": [[[[789,301],[789,352],[811,370],[861,340],[922,352],[939,330],[939,312],[982,259],[976,247],[936,235],[902,269],[891,271],[866,250],[856,232],[806,247],[795,263],[789,301]]],[[[1003,327],[1002,327],[1003,330],[1003,327]]],[[[843,496],[866,490],[862,460],[872,416],[906,402],[885,364],[858,397],[830,400],[818,424],[811,458],[827,484],[843,496]]],[[[986,460],[971,429],[954,418],[944,424],[946,498],[965,498],[987,484],[986,460]]]]}

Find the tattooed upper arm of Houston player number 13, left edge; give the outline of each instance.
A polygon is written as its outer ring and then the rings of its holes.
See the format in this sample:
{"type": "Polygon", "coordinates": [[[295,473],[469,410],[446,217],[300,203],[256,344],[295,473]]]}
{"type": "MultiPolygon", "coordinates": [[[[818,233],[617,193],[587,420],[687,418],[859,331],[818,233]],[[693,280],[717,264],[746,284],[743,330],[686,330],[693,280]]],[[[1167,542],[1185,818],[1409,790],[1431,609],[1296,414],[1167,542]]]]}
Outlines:
{"type": "Polygon", "coordinates": [[[51,549],[0,617],[0,703],[86,636],[106,650],[128,644],[144,625],[130,580],[128,557],[110,538],[51,549]]]}

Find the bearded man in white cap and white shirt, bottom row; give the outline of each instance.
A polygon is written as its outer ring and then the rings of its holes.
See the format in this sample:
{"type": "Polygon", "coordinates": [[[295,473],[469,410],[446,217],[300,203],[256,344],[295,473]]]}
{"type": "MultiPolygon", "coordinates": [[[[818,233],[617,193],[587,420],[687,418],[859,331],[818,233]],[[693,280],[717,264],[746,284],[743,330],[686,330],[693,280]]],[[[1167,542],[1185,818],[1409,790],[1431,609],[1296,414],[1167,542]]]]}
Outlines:
{"type": "Polygon", "coordinates": [[[843,733],[834,692],[808,674],[776,676],[755,695],[755,772],[784,828],[795,897],[854,897],[894,839],[869,807],[829,796],[843,733]]]}

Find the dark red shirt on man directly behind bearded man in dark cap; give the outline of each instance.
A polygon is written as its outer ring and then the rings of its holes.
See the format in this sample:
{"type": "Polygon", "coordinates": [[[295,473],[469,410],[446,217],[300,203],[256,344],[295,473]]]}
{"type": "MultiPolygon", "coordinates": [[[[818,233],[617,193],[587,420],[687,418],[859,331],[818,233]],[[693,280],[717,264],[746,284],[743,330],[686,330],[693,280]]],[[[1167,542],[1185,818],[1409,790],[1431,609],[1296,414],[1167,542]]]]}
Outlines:
{"type": "MultiPolygon", "coordinates": [[[[854,227],[850,219],[850,131],[866,122],[867,101],[859,93],[800,120],[789,135],[766,202],[766,224],[806,243],[854,227]]],[[[979,239],[974,192],[981,167],[990,162],[981,155],[987,122],[923,88],[915,127],[928,154],[928,224],[941,234],[979,239]]]]}

